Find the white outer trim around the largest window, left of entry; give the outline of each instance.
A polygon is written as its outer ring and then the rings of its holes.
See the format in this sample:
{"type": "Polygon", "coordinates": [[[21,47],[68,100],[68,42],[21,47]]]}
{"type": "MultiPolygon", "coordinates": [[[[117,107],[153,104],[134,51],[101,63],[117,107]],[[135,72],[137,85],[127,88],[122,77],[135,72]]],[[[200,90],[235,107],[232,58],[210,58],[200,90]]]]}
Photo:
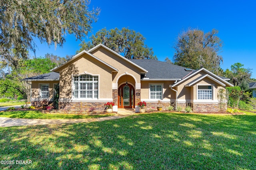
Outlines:
{"type": "Polygon", "coordinates": [[[71,84],[72,84],[72,101],[99,101],[100,100],[100,75],[99,74],[92,74],[92,73],[87,73],[86,71],[84,71],[84,73],[74,74],[71,76],[72,76],[72,82],[71,82],[71,84]],[[98,76],[98,99],[75,98],[75,96],[74,96],[74,90],[75,90],[74,76],[80,76],[80,75],[98,76]]]}

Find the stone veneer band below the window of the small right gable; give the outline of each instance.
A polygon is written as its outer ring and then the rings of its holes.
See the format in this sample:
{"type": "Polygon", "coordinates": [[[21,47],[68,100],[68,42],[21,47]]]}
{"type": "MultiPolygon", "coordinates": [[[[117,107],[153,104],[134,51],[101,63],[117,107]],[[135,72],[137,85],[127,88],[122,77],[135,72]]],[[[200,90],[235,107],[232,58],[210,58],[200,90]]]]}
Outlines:
{"type": "Polygon", "coordinates": [[[218,103],[193,103],[194,113],[218,111],[220,111],[220,105],[218,103]]]}

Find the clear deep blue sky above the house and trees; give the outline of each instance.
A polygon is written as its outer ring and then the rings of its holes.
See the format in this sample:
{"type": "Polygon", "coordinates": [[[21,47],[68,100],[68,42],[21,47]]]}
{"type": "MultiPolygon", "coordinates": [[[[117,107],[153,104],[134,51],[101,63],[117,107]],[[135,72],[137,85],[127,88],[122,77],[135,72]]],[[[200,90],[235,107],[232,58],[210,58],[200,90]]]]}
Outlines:
{"type": "MultiPolygon", "coordinates": [[[[232,64],[240,62],[252,69],[252,77],[256,78],[255,0],[91,0],[92,6],[101,9],[98,21],[92,24],[92,34],[105,27],[107,30],[128,27],[146,38],[146,45],[153,47],[160,61],[166,57],[172,59],[174,42],[182,30],[190,27],[210,32],[214,28],[223,42],[222,69],[230,69],[232,64]]],[[[56,49],[54,45],[49,48],[38,40],[35,42],[37,57],[46,53],[61,57],[74,55],[80,48],[80,41],[72,35],[67,35],[63,47],[56,49]]]]}

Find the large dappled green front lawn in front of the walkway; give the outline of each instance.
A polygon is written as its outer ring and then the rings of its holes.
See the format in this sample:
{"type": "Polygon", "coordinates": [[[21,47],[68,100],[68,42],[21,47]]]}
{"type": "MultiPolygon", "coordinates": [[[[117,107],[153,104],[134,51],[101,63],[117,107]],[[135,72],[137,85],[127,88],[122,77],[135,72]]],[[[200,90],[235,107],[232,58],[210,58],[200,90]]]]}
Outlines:
{"type": "Polygon", "coordinates": [[[256,114],[136,114],[123,119],[0,128],[11,169],[255,169],[256,114]]]}

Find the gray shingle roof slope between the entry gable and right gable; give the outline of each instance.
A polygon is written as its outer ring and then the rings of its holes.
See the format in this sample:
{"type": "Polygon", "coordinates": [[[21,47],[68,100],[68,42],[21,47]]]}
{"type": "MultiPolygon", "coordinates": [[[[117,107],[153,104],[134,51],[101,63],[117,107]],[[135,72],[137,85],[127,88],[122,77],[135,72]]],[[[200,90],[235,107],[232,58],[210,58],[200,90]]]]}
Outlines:
{"type": "Polygon", "coordinates": [[[133,63],[146,69],[146,78],[149,79],[182,79],[192,71],[186,71],[186,67],[158,61],[155,59],[130,59],[133,63]]]}

